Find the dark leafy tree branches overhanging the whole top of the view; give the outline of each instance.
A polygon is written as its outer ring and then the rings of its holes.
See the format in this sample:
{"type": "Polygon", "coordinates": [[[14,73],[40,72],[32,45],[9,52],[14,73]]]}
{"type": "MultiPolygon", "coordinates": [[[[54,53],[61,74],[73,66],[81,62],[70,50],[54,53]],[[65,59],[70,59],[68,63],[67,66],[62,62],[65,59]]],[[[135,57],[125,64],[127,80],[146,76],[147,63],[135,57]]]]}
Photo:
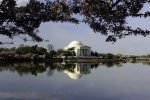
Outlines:
{"type": "MultiPolygon", "coordinates": [[[[29,0],[27,5],[18,6],[15,0],[2,0],[0,4],[0,35],[24,41],[43,41],[38,28],[44,22],[85,23],[94,32],[105,35],[106,41],[131,35],[147,36],[149,30],[133,28],[126,22],[128,17],[150,16],[140,12],[150,0],[29,0]],[[79,16],[82,17],[79,17],[79,16]],[[30,37],[30,38],[29,38],[30,37]]],[[[0,41],[0,44],[9,43],[0,41]]]]}

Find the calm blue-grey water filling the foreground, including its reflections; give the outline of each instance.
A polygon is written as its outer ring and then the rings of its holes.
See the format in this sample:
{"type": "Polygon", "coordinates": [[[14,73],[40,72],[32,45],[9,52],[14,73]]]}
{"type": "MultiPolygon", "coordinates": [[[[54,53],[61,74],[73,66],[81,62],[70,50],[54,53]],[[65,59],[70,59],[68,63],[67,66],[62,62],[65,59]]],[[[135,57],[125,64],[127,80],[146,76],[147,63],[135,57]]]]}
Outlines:
{"type": "Polygon", "coordinates": [[[150,63],[1,63],[0,100],[150,100],[150,63]]]}

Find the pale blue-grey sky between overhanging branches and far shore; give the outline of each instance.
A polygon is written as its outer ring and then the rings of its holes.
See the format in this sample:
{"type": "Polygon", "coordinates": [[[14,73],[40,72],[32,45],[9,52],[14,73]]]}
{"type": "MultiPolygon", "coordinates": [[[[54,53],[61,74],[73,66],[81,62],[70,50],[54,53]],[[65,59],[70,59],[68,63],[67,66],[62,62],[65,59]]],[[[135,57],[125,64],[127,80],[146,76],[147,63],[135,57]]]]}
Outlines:
{"type": "MultiPolygon", "coordinates": [[[[25,0],[27,1],[27,0],[25,0]]],[[[150,9],[146,7],[145,10],[150,9]]],[[[150,18],[146,19],[131,19],[128,18],[127,22],[133,27],[142,27],[150,30],[149,23],[150,18]]],[[[129,36],[118,40],[116,43],[112,44],[105,42],[106,37],[100,35],[100,33],[94,33],[88,25],[85,24],[71,24],[71,23],[53,23],[47,22],[41,24],[39,28],[39,35],[48,39],[50,42],[46,43],[33,43],[33,42],[23,42],[21,39],[15,38],[14,45],[3,45],[0,47],[12,47],[18,46],[21,43],[27,45],[39,44],[39,46],[46,47],[47,44],[51,43],[55,46],[56,49],[66,47],[71,41],[78,40],[85,45],[92,47],[92,50],[100,53],[121,53],[129,55],[144,55],[150,54],[150,36],[129,36]]],[[[0,38],[1,40],[9,40],[5,37],[0,38]]]]}

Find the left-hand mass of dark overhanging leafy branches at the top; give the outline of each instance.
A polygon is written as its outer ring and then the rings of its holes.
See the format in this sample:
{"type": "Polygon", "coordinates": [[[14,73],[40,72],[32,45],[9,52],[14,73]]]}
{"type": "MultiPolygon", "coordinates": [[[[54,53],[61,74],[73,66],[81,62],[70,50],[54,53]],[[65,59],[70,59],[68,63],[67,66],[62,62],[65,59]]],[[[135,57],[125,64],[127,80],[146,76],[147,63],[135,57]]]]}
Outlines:
{"type": "Polygon", "coordinates": [[[48,21],[78,22],[71,17],[69,6],[58,1],[30,0],[26,6],[17,7],[14,0],[3,0],[0,5],[0,34],[9,38],[18,36],[27,41],[25,36],[28,35],[33,41],[40,42],[43,39],[37,35],[38,28],[48,21]]]}

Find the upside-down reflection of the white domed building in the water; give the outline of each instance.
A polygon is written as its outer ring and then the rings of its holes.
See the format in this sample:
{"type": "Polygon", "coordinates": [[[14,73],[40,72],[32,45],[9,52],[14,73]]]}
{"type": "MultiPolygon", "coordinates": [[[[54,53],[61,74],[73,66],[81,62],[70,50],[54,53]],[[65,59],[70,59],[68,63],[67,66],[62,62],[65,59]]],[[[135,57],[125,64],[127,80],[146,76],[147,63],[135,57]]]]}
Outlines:
{"type": "Polygon", "coordinates": [[[71,79],[77,80],[83,75],[91,73],[91,63],[75,63],[72,70],[64,70],[71,79]]]}

